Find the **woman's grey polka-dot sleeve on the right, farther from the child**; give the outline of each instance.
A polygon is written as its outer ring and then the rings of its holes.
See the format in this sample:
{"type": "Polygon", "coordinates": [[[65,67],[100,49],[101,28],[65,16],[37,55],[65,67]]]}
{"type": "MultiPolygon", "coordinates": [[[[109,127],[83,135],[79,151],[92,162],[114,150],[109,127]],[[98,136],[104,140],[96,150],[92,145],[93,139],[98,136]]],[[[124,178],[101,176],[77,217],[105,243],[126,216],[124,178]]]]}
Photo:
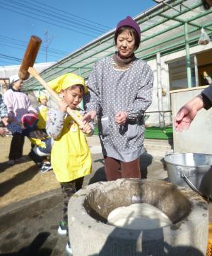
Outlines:
{"type": "Polygon", "coordinates": [[[153,80],[153,71],[146,63],[146,66],[143,68],[143,74],[141,75],[141,87],[137,92],[136,99],[132,104],[129,104],[128,108],[126,109],[128,119],[135,119],[142,116],[148,106],[151,105],[153,80]]]}

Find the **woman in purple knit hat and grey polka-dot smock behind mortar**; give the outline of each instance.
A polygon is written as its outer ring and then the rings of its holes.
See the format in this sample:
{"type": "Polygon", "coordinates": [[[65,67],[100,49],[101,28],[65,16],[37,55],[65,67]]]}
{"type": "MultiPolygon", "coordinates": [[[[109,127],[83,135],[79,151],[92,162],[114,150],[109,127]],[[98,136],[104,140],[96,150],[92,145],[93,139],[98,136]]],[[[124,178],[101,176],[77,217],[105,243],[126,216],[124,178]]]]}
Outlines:
{"type": "Polygon", "coordinates": [[[108,181],[141,177],[143,113],[152,102],[153,72],[134,55],[140,41],[138,23],[127,16],[114,33],[117,52],[96,62],[88,79],[84,120],[98,116],[108,181]]]}

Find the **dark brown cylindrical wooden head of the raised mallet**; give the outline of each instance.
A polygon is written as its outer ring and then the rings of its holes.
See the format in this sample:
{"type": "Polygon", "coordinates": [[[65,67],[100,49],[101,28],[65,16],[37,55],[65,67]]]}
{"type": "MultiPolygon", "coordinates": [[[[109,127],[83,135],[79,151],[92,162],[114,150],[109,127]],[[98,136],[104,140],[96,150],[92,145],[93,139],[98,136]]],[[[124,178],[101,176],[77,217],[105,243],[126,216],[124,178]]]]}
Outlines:
{"type": "Polygon", "coordinates": [[[37,57],[37,52],[40,48],[41,43],[42,43],[42,40],[38,38],[36,35],[32,35],[30,37],[28,48],[25,50],[23,61],[20,65],[20,69],[18,72],[18,76],[20,77],[20,79],[26,80],[30,77],[28,68],[33,67],[35,63],[35,59],[37,57]]]}

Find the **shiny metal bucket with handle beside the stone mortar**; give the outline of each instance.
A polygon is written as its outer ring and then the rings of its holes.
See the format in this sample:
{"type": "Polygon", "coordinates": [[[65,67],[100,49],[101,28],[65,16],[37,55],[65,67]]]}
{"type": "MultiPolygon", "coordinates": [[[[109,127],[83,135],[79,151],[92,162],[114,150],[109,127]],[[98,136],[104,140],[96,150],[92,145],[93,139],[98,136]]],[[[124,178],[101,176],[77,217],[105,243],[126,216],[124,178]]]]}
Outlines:
{"type": "Polygon", "coordinates": [[[170,182],[212,199],[212,155],[173,153],[164,160],[170,182]]]}

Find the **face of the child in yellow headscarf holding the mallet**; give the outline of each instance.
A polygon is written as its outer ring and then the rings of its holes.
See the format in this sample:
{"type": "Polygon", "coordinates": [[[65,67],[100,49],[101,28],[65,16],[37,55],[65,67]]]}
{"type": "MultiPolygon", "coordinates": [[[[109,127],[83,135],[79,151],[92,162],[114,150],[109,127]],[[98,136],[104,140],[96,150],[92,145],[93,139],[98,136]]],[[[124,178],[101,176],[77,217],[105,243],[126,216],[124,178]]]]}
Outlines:
{"type": "Polygon", "coordinates": [[[75,109],[83,99],[83,91],[81,91],[80,87],[76,87],[74,89],[69,87],[64,91],[61,91],[61,95],[64,96],[64,100],[71,109],[75,109]]]}

